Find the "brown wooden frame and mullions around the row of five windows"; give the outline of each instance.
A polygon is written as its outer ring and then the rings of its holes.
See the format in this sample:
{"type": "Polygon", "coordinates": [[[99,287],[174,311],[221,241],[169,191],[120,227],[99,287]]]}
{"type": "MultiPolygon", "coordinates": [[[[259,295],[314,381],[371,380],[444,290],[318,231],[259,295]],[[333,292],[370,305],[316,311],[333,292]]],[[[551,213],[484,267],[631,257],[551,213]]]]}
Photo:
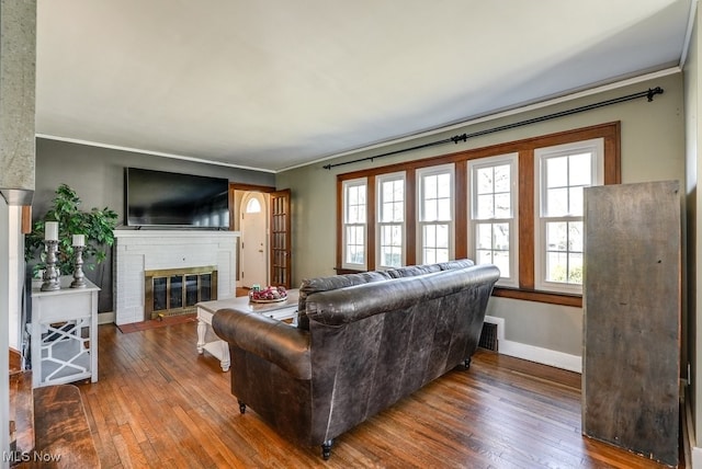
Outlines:
{"type": "MultiPolygon", "coordinates": [[[[519,197],[519,254],[518,275],[519,286],[507,287],[497,285],[492,290],[492,296],[521,299],[528,301],[539,301],[553,305],[564,305],[573,307],[582,306],[582,296],[578,294],[564,294],[543,291],[535,288],[534,282],[534,151],[536,148],[551,147],[562,144],[569,144],[593,138],[604,139],[604,184],[621,183],[621,122],[609,122],[588,127],[563,130],[558,133],[540,135],[521,140],[496,144],[485,147],[476,147],[463,151],[446,155],[420,158],[415,160],[392,163],[383,167],[364,168],[348,173],[339,173],[337,178],[337,265],[338,273],[362,272],[360,270],[344,268],[342,265],[342,184],[344,181],[369,178],[369,181],[383,174],[406,171],[406,226],[407,226],[407,265],[417,264],[417,171],[422,168],[441,164],[455,164],[454,180],[454,254],[455,259],[469,258],[468,255],[468,172],[467,164],[472,160],[494,157],[510,152],[518,152],[518,197],[519,197]]],[[[372,164],[372,163],[367,163],[372,164]]],[[[369,192],[375,190],[374,184],[369,184],[369,192]]],[[[369,193],[369,210],[375,209],[375,195],[369,193]]],[[[369,218],[374,220],[374,218],[369,218]]],[[[369,245],[375,243],[375,222],[367,227],[369,245]]],[[[375,252],[373,245],[373,251],[375,252]]],[[[375,270],[375,259],[369,259],[367,270],[375,270]]]]}

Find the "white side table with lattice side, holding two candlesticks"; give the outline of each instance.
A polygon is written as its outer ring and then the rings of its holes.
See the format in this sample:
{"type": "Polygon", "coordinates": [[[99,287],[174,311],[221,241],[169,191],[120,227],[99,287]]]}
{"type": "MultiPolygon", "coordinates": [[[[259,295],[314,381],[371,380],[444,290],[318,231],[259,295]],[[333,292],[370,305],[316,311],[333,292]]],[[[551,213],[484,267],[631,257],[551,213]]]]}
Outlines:
{"type": "Polygon", "coordinates": [[[60,289],[42,291],[32,282],[32,380],[35,388],[80,379],[98,380],[98,293],[70,288],[72,276],[60,277],[60,289]]]}

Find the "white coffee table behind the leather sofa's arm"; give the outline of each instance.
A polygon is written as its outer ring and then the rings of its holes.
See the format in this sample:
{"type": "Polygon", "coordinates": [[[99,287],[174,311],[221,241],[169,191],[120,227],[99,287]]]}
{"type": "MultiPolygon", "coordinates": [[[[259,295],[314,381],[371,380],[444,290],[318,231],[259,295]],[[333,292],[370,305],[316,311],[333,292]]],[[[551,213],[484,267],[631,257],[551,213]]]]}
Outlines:
{"type": "Polygon", "coordinates": [[[207,351],[219,359],[223,371],[228,371],[230,366],[229,344],[217,338],[215,341],[205,342],[208,328],[212,327],[212,317],[220,309],[230,308],[241,312],[259,312],[270,318],[284,321],[297,319],[297,299],[299,291],[297,288],[287,290],[287,299],[278,302],[251,302],[246,296],[219,299],[213,301],[202,301],[197,307],[197,353],[207,351]]]}

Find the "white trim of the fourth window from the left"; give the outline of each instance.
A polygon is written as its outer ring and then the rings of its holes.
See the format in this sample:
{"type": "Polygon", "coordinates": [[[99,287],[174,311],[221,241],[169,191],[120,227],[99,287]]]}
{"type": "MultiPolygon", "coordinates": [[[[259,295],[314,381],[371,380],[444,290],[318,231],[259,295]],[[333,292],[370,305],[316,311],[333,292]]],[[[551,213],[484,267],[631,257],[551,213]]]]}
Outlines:
{"type": "Polygon", "coordinates": [[[509,277],[500,276],[497,286],[518,288],[519,287],[519,153],[506,153],[495,157],[479,158],[468,161],[468,255],[475,261],[477,260],[477,222],[509,222],[509,277]],[[494,218],[489,220],[477,219],[475,217],[475,201],[477,198],[475,172],[480,168],[491,168],[501,164],[510,165],[510,206],[512,207],[512,217],[510,219],[494,218]]]}

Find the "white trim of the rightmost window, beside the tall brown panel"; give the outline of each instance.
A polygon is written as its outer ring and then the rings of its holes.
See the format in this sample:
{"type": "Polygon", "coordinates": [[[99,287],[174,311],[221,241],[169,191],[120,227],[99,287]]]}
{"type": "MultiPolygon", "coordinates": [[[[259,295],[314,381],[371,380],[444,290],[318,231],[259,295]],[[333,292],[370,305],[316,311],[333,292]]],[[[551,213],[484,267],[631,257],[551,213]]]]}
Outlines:
{"type": "MultiPolygon", "coordinates": [[[[550,219],[563,219],[569,217],[544,218],[545,211],[545,187],[543,187],[543,172],[547,158],[573,155],[575,152],[591,151],[595,155],[591,161],[592,185],[604,184],[604,139],[595,138],[591,140],[575,141],[570,144],[543,147],[534,150],[534,287],[537,290],[551,293],[564,293],[582,295],[582,285],[564,284],[558,282],[546,282],[546,250],[544,238],[546,221],[550,219]]],[[[582,219],[581,217],[577,217],[582,219]]],[[[570,218],[573,219],[573,218],[570,218]]],[[[585,247],[584,247],[585,249],[585,247]]]]}

